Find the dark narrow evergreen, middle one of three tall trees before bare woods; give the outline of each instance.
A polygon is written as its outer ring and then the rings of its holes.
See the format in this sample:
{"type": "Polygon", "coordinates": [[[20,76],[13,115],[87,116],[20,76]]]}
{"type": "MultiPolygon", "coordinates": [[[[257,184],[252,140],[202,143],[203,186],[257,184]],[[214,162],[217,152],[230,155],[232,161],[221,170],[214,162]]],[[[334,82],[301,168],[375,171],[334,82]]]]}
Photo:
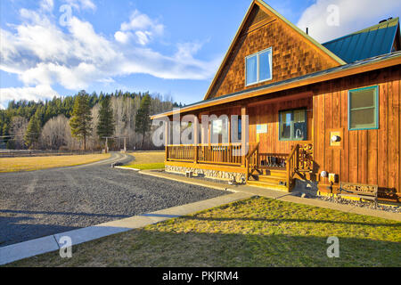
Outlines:
{"type": "Polygon", "coordinates": [[[97,124],[97,135],[101,140],[103,137],[114,134],[115,121],[111,108],[110,96],[103,97],[100,102],[99,122],[97,124]]]}

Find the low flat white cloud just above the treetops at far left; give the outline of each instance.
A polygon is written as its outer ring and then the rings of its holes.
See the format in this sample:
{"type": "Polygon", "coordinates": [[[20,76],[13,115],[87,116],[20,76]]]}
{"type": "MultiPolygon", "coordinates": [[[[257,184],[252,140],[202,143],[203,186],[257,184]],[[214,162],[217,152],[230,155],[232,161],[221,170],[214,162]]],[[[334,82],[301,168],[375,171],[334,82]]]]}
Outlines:
{"type": "Polygon", "coordinates": [[[2,107],[5,109],[5,103],[12,100],[26,99],[28,101],[38,101],[39,99],[52,99],[54,96],[60,95],[48,85],[0,88],[0,109],[2,107]]]}

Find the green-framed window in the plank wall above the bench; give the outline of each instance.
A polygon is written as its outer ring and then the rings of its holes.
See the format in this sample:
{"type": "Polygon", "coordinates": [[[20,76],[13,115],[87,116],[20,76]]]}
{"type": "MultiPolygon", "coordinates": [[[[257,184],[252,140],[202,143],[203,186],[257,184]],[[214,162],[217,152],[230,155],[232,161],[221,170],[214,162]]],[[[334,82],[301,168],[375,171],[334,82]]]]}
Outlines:
{"type": "Polygon", "coordinates": [[[379,128],[378,86],[349,90],[348,129],[366,130],[379,128]]]}

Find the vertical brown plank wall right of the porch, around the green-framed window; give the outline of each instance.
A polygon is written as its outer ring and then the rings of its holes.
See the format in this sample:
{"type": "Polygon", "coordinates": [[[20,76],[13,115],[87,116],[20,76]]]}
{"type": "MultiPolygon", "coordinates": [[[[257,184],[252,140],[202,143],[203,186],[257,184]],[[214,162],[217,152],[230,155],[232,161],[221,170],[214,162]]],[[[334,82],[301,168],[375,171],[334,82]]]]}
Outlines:
{"type": "MultiPolygon", "coordinates": [[[[378,184],[401,196],[400,69],[381,69],[315,86],[314,144],[319,171],[340,175],[340,181],[378,184]],[[379,86],[379,128],[348,130],[348,90],[379,86]],[[330,148],[331,128],[343,129],[343,146],[330,148]]],[[[319,178],[328,184],[327,178],[319,178]]]]}

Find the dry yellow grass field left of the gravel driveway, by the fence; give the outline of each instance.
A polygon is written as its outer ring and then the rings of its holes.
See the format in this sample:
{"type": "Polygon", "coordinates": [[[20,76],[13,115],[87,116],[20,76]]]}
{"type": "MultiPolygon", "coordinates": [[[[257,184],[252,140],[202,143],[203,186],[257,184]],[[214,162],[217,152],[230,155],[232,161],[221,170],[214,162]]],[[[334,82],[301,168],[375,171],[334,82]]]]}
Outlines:
{"type": "Polygon", "coordinates": [[[72,167],[110,158],[108,154],[0,159],[0,172],[31,171],[53,167],[72,167]]]}

